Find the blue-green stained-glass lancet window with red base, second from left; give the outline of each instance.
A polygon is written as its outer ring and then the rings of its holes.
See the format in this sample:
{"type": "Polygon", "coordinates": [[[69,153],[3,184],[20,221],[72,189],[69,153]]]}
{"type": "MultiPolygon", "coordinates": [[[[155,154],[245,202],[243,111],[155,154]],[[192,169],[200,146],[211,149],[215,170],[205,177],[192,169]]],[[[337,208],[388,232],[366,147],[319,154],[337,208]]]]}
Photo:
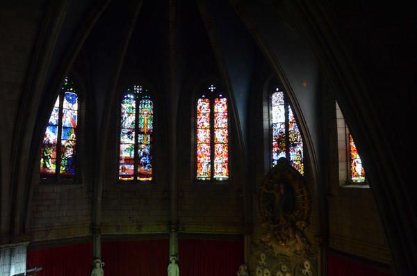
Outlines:
{"type": "Polygon", "coordinates": [[[120,180],[152,180],[153,133],[154,102],[147,89],[133,86],[121,104],[120,180]]]}

